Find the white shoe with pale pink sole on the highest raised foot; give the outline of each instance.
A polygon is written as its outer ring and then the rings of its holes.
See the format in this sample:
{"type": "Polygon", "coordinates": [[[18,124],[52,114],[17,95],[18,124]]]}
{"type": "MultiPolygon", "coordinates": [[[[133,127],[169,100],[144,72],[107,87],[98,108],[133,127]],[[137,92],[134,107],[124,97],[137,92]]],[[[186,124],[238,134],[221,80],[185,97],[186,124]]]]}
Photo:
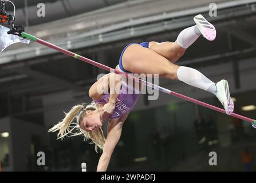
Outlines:
{"type": "Polygon", "coordinates": [[[194,21],[196,23],[196,26],[202,33],[203,37],[209,41],[214,41],[214,39],[216,38],[215,27],[210,22],[208,22],[201,14],[196,15],[194,17],[194,21]]]}

